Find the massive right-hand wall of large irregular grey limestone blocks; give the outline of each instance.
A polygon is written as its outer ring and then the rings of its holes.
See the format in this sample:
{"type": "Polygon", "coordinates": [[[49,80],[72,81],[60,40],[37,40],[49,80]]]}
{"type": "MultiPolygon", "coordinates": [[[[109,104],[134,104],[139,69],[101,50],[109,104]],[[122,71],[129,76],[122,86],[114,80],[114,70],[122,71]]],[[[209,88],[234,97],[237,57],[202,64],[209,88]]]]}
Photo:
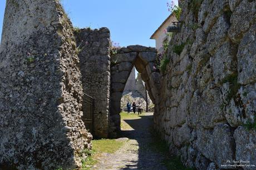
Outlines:
{"type": "Polygon", "coordinates": [[[256,166],[256,1],[196,2],[181,1],[155,128],[187,166],[256,166]]]}

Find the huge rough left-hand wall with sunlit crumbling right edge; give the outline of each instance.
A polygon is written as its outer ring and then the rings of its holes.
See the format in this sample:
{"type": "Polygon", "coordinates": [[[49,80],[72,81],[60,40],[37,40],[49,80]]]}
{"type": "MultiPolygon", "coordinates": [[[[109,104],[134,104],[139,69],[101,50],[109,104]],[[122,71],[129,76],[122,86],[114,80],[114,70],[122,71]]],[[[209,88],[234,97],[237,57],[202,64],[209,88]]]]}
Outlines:
{"type": "Polygon", "coordinates": [[[74,169],[90,148],[72,26],[58,1],[7,0],[0,47],[0,169],[74,169]]]}

